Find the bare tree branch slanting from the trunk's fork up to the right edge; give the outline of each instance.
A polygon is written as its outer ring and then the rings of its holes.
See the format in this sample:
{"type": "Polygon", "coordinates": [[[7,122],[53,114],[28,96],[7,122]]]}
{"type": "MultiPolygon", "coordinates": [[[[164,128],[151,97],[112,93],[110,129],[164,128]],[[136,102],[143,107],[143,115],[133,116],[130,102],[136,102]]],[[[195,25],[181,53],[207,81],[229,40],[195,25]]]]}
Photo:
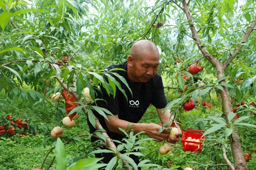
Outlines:
{"type": "MultiPolygon", "coordinates": [[[[249,38],[250,34],[252,33],[252,31],[254,30],[254,26],[256,25],[256,16],[255,18],[252,20],[252,24],[250,25],[250,28],[248,29],[248,31],[246,32],[246,34],[244,35],[244,38],[242,39],[242,43],[246,42],[246,40],[249,38]]],[[[224,69],[226,70],[229,63],[236,57],[236,55],[238,55],[240,49],[242,48],[243,44],[240,44],[236,47],[236,50],[234,52],[234,54],[232,56],[230,56],[227,61],[223,64],[224,65],[224,69]]]]}

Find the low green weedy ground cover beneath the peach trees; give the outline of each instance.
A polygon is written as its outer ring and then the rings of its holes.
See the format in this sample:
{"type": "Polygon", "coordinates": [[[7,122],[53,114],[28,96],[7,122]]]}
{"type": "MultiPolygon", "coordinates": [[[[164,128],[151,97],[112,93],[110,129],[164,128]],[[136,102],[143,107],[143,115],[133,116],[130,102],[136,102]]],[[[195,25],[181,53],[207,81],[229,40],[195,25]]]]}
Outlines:
{"type": "MultiPolygon", "coordinates": [[[[176,89],[177,90],[177,89],[176,89]]],[[[172,90],[166,89],[166,96],[168,101],[172,99],[172,90]]],[[[63,100],[63,99],[61,99],[63,100]]],[[[200,103],[200,101],[198,101],[200,103]]],[[[210,128],[209,124],[203,125],[202,122],[195,122],[194,120],[199,117],[207,117],[209,115],[215,115],[221,112],[221,107],[216,96],[212,96],[212,109],[203,109],[202,106],[196,106],[195,109],[189,112],[181,112],[179,114],[182,125],[182,129],[193,128],[206,130],[210,128]]],[[[53,146],[56,139],[50,136],[51,129],[58,125],[60,122],[56,122],[56,108],[64,108],[64,103],[60,102],[52,103],[52,105],[44,105],[38,103],[31,107],[28,103],[18,98],[16,101],[10,100],[3,91],[0,93],[0,119],[5,119],[6,115],[11,115],[14,118],[20,117],[22,120],[28,122],[37,128],[39,135],[22,136],[18,137],[17,134],[5,138],[0,136],[0,169],[1,170],[30,170],[32,168],[40,168],[46,152],[53,146]],[[47,141],[45,140],[48,139],[47,141]],[[44,148],[44,144],[46,147],[44,148]]],[[[63,115],[64,117],[65,115],[63,115]]],[[[144,117],[140,122],[144,123],[160,123],[155,109],[151,106],[148,108],[144,117]]],[[[248,119],[248,123],[255,123],[255,116],[248,119]]],[[[62,125],[64,133],[61,137],[65,142],[68,139],[78,134],[89,134],[88,125],[86,123],[86,117],[81,115],[80,119],[76,121],[74,128],[66,128],[62,125]]],[[[242,140],[242,149],[244,153],[252,153],[252,160],[246,162],[248,169],[256,169],[256,129],[252,127],[238,127],[239,134],[242,140]]],[[[147,136],[141,135],[140,138],[146,138],[147,136]]],[[[171,152],[165,155],[158,154],[158,148],[163,142],[146,141],[141,146],[146,146],[146,150],[141,150],[144,156],[140,158],[142,160],[149,159],[149,163],[159,164],[162,169],[167,168],[170,170],[183,170],[186,166],[191,166],[197,170],[206,166],[214,164],[226,164],[223,155],[221,145],[216,143],[225,143],[225,138],[220,136],[220,133],[212,133],[206,136],[205,145],[202,152],[197,154],[195,152],[183,152],[182,142],[178,142],[171,146],[171,152]]],[[[228,143],[228,142],[226,142],[228,143]]],[[[229,146],[229,144],[228,144],[229,146]]],[[[230,147],[227,150],[229,158],[231,156],[230,147]]],[[[67,154],[67,166],[78,158],[87,156],[89,152],[94,149],[94,146],[90,145],[90,139],[85,136],[77,138],[73,142],[65,146],[67,154]]],[[[50,164],[54,152],[52,152],[46,159],[44,169],[50,164]]],[[[90,155],[91,157],[93,155],[90,155]]],[[[231,160],[232,161],[232,160],[231,160]]],[[[52,165],[51,170],[56,169],[55,163],[52,165]]],[[[142,168],[157,169],[157,168],[142,168]]],[[[209,168],[209,170],[215,170],[216,168],[209,168]]],[[[220,167],[219,169],[226,170],[226,167],[220,167]]]]}

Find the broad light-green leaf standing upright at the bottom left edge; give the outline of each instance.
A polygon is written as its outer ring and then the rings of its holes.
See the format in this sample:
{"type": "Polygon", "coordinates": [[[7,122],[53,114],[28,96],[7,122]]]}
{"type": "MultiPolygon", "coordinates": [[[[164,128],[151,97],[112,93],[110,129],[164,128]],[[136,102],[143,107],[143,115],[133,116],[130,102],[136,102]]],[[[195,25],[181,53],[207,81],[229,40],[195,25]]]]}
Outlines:
{"type": "Polygon", "coordinates": [[[66,170],[66,152],[64,148],[64,143],[57,139],[56,148],[55,148],[55,157],[56,157],[56,167],[58,170],[66,170]]]}

